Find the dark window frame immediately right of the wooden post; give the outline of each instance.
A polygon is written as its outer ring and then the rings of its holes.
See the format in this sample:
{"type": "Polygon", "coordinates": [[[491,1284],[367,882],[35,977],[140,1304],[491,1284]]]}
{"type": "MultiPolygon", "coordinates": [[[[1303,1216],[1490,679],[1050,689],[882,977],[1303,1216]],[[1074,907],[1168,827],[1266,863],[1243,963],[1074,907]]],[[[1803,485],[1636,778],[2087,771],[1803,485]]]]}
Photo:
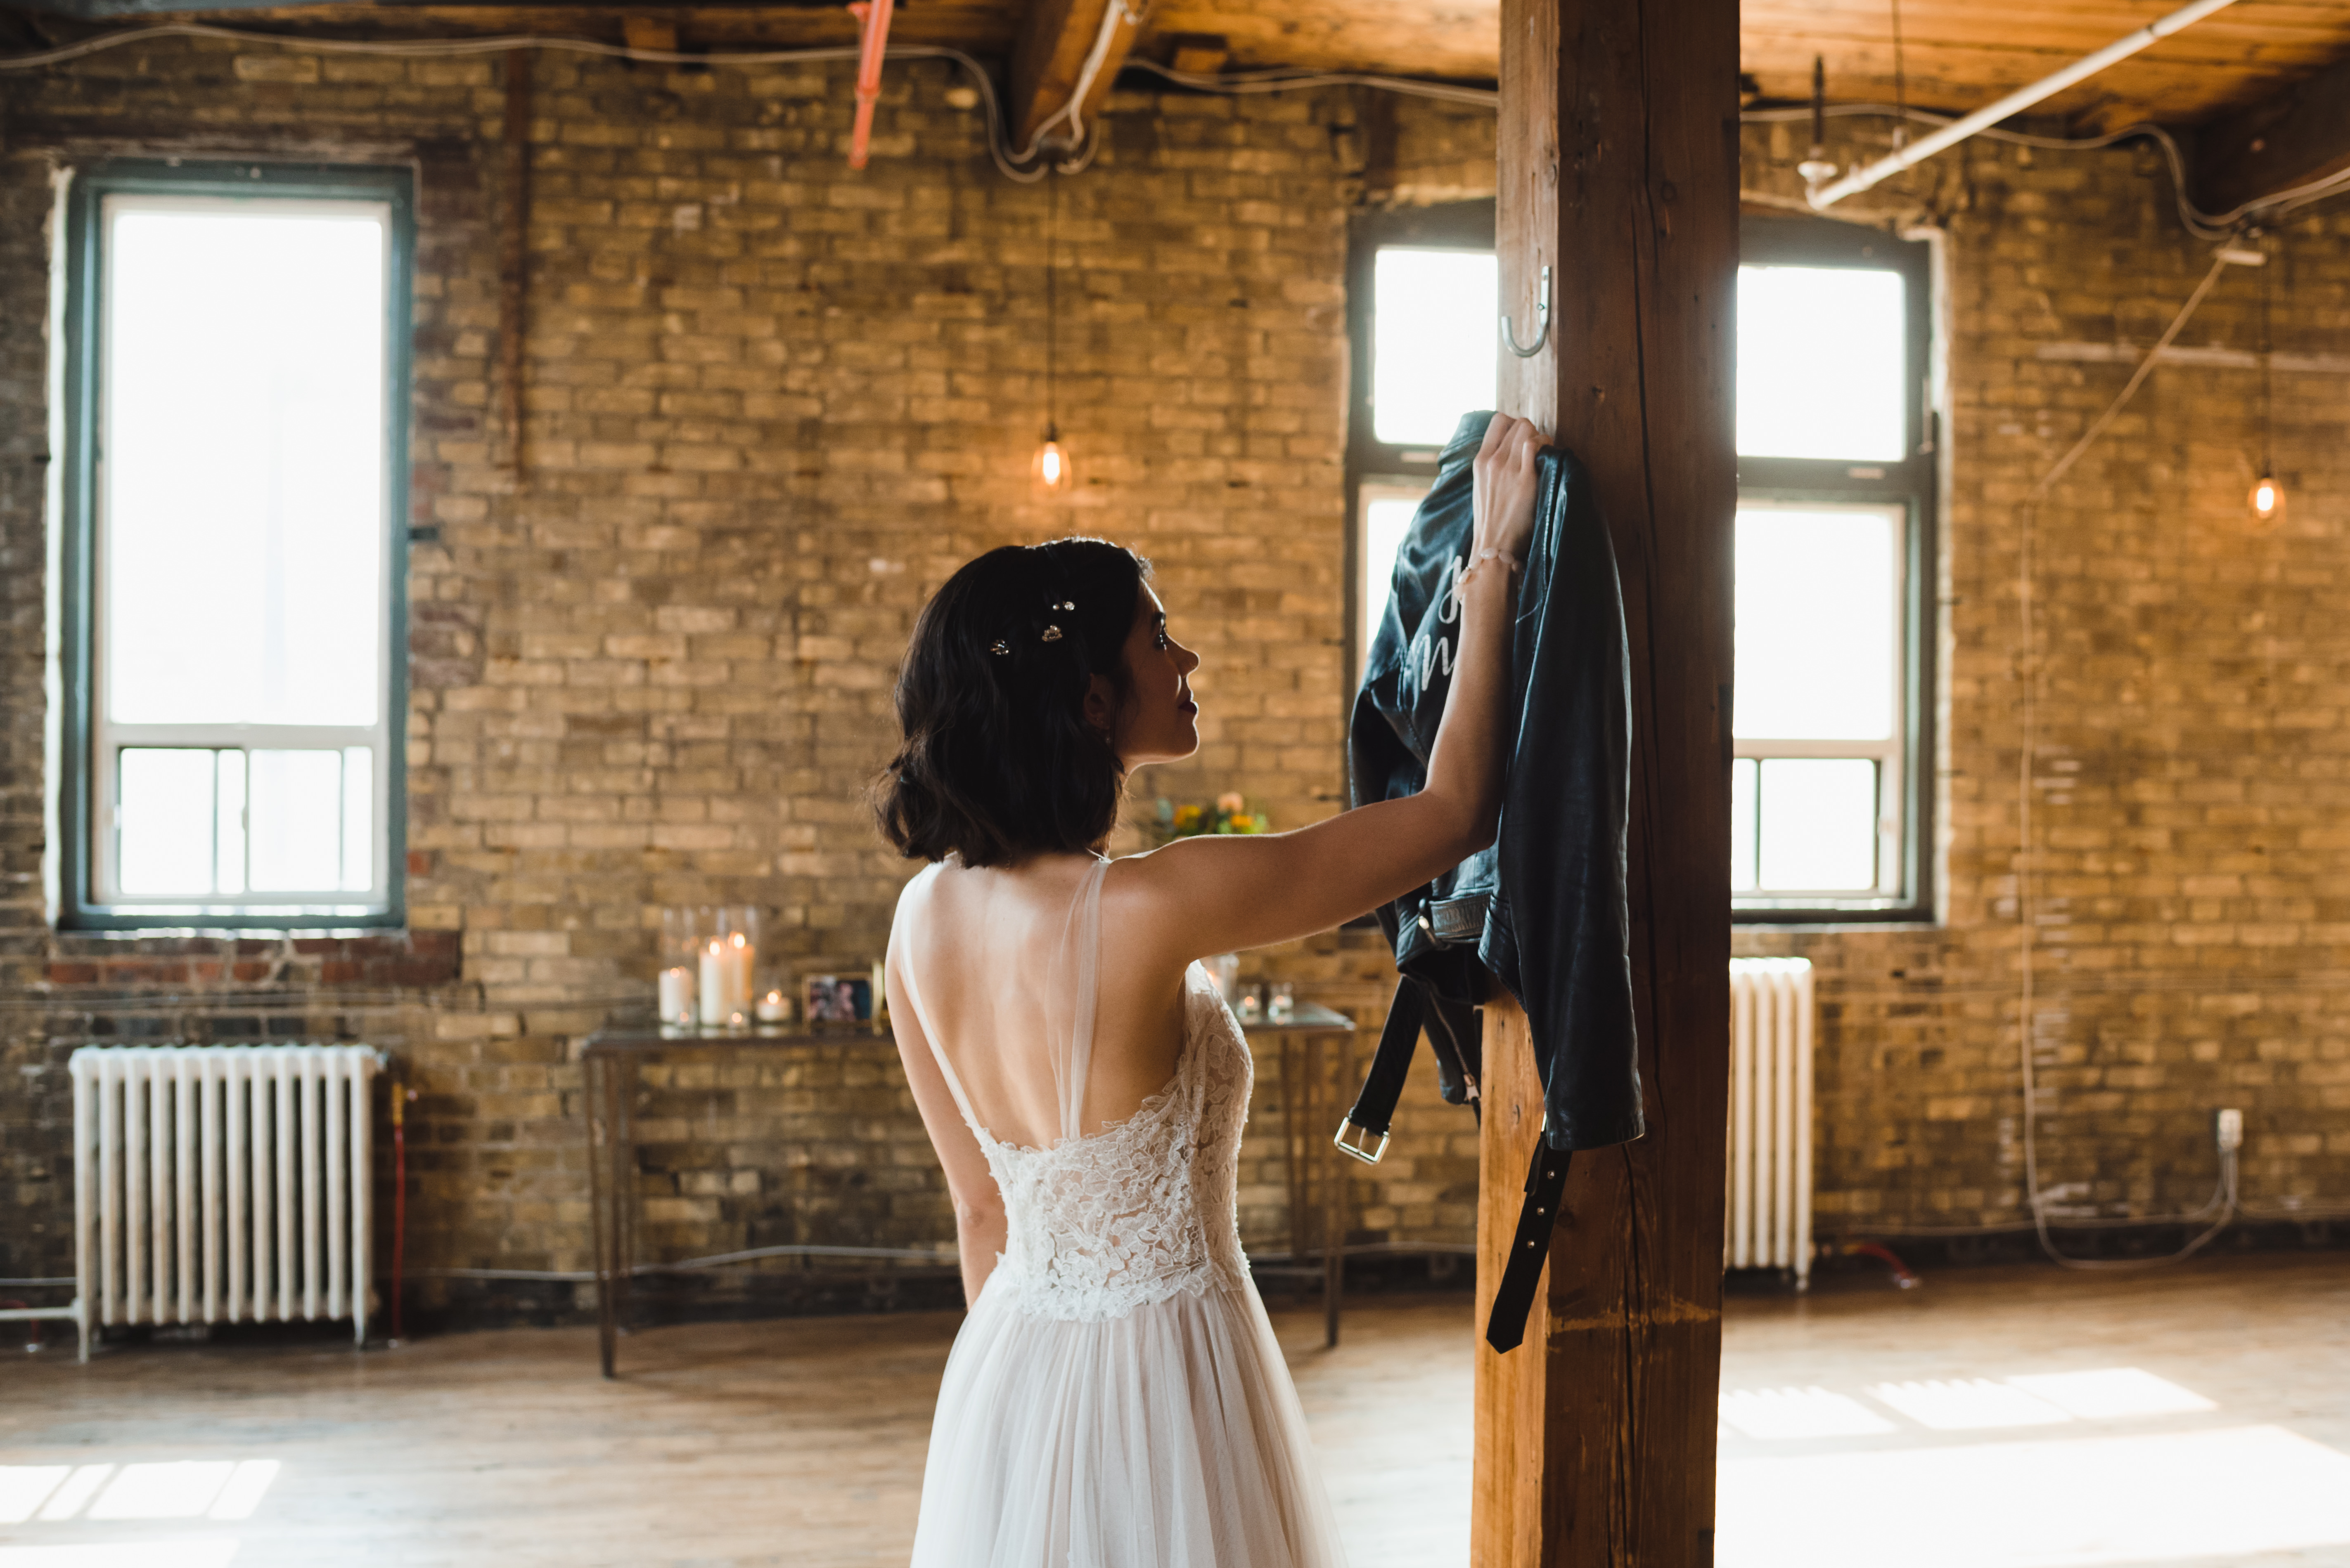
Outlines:
{"type": "MultiPolygon", "coordinates": [[[[1772,897],[1732,894],[1737,925],[1824,922],[1932,922],[1934,920],[1934,582],[1936,493],[1941,420],[1934,399],[1934,268],[1925,239],[1899,239],[1885,230],[1800,218],[1746,214],[1739,221],[1739,265],[1859,268],[1899,272],[1906,310],[1908,397],[1904,406],[1906,458],[1854,462],[1831,458],[1739,455],[1739,505],[1878,505],[1899,507],[1906,533],[1899,552],[1899,657],[1901,723],[1899,761],[1880,768],[1880,822],[1887,807],[1899,819],[1899,883],[1892,894],[1772,897]],[[1892,775],[1892,777],[1887,777],[1892,775]]],[[[1828,751],[1819,742],[1741,742],[1739,758],[1770,756],[1873,756],[1859,749],[1828,751]]],[[[1880,847],[1882,854],[1882,847],[1880,847]]],[[[1730,869],[1723,869],[1730,876],[1730,869]]]]}

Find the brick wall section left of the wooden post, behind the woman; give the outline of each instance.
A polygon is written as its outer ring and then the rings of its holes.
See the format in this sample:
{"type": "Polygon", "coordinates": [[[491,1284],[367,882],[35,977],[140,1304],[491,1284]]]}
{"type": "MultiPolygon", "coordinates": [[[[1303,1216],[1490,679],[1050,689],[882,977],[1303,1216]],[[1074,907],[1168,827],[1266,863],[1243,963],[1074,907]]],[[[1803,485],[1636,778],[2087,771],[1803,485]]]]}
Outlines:
{"type": "MultiPolygon", "coordinates": [[[[870,829],[914,610],[971,554],[1130,540],[1201,648],[1201,756],[1142,782],[1335,807],[1347,692],[1342,415],[1358,101],[1116,94],[1060,181],[1065,505],[1046,411],[1048,190],[996,176],[945,66],[893,66],[865,174],[848,68],[533,63],[526,467],[498,427],[496,61],[162,42],[9,77],[0,162],[7,998],[0,1275],[70,1270],[63,1056],[82,1040],[374,1040],[416,1089],[409,1263],[590,1263],[578,1042],[651,991],[667,904],[759,904],[790,965],[881,951],[912,866],[870,829]],[[418,169],[409,913],[402,939],[59,937],[45,925],[42,322],[52,171],[103,153],[418,169]]],[[[1408,106],[1394,167],[1490,117],[1408,106]]],[[[1469,148],[1469,153],[1464,153],[1469,148]]],[[[1379,1021],[1375,934],[1250,976],[1379,1021]]],[[[1276,1075],[1243,1171],[1285,1235],[1276,1075]]],[[[670,1253],[952,1239],[895,1056],[649,1075],[649,1237],[670,1253]]],[[[1365,1171],[1365,1176],[1370,1176],[1365,1171]]],[[[1473,1223],[1473,1127],[1419,1084],[1361,1239],[1473,1223]]],[[[564,1282],[428,1277],[418,1305],[569,1310],[564,1282]]]]}

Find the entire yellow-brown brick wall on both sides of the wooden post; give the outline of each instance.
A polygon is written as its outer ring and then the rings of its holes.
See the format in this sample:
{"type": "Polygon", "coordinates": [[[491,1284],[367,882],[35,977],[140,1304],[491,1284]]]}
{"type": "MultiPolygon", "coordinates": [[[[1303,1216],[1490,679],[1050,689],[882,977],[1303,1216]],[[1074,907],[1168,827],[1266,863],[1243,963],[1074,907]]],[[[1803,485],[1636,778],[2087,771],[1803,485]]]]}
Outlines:
{"type": "MultiPolygon", "coordinates": [[[[1379,129],[1344,92],[1116,94],[1100,164],[1060,185],[1060,406],[1083,484],[1048,507],[1025,481],[1046,192],[992,171],[978,120],[945,108],[949,80],[893,68],[874,167],[851,176],[846,68],[543,56],[519,479],[491,425],[491,63],[164,42],[9,80],[0,1275],[68,1270],[63,1054],[143,1038],[385,1045],[418,1091],[411,1265],[583,1268],[578,1040],[649,995],[665,904],[761,904],[792,962],[870,962],[907,871],[855,800],[888,742],[893,660],[931,587],[989,545],[1100,530],[1159,563],[1208,660],[1206,746],[1147,793],[1238,786],[1283,824],[1332,810],[1347,214],[1490,192],[1490,120],[1401,103],[1379,129]],[[402,939],[45,925],[45,225],[52,169],[99,153],[418,169],[414,521],[437,540],[414,552],[402,939]]],[[[1744,183],[1786,200],[1800,155],[1753,129],[1744,183]]],[[[2016,500],[2127,376],[2042,347],[2143,343],[2207,265],[2131,150],[2026,162],[1976,143],[1911,181],[1864,207],[1946,237],[1948,918],[1739,934],[1821,967],[1826,1232],[2019,1216],[2016,500]]],[[[2277,345],[2350,354],[2350,225],[2310,218],[2277,244],[2277,345]]],[[[2251,289],[2230,277],[2186,343],[2249,347],[2251,289]]],[[[2272,533],[2242,526],[2256,383],[2240,369],[2160,371],[2040,514],[2035,1040],[2047,1178],[2087,1183],[2080,1202],[2200,1202],[2204,1117],[2237,1103],[2251,1202],[2350,1204],[2345,385],[2277,378],[2291,509],[2272,533]]],[[[1375,1028],[1384,969],[1347,932],[1243,972],[1375,1028]]],[[[1283,1230],[1274,1108],[1264,1082],[1243,1171],[1260,1244],[1283,1230]]],[[[667,1251],[952,1232],[886,1045],[684,1063],[646,1115],[682,1134],[642,1174],[667,1251]]],[[[1426,1077],[1363,1176],[1356,1239],[1471,1235],[1473,1127],[1426,1077]]],[[[430,1279],[418,1300],[479,1317],[580,1296],[430,1279]]]]}

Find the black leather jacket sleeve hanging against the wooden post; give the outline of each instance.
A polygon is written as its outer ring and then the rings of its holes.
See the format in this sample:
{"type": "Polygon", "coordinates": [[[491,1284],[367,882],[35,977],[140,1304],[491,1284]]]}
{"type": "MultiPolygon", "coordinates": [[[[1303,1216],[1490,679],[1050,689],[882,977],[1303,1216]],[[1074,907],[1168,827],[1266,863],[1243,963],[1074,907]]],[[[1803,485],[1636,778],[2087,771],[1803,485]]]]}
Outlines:
{"type": "Polygon", "coordinates": [[[1631,660],[1607,523],[1582,462],[1539,458],[1518,589],[1518,730],[1502,796],[1499,897],[1480,955],[1516,993],[1542,1070],[1551,1148],[1643,1131],[1624,845],[1631,660]]]}

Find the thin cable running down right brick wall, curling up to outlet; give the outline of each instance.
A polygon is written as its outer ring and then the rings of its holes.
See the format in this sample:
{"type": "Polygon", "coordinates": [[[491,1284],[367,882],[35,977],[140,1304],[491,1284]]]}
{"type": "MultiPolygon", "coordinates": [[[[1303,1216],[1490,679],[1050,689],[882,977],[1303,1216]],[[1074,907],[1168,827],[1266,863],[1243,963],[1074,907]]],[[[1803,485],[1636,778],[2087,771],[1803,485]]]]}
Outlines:
{"type": "Polygon", "coordinates": [[[2237,1214],[2237,1150],[2218,1150],[2218,1188],[2211,1197],[2188,1214],[2178,1216],[2084,1216],[2080,1221],[2061,1221],[2066,1228],[2138,1228],[2138,1225],[2195,1225],[2211,1218],[2211,1225],[2193,1237],[2186,1246],[2162,1258],[2075,1258],[2056,1246],[2049,1235],[2049,1199],[2040,1185],[2040,1082],[2033,1066],[2033,1021],[2035,1021],[2035,967],[2033,967],[2033,920],[2037,915],[2033,906],[2033,761],[2040,749],[2040,657],[2035,653],[2037,624],[2033,617],[2033,545],[2040,502],[2056,488],[2073,465],[2096,444],[2101,434],[2122,415],[2129,399],[2138,394],[2146,378],[2155,373],[2155,361],[2162,359],[2181,331],[2186,331],[2188,317],[2195,307],[2204,303],[2214,286],[2218,286],[2221,272],[2237,263],[2242,251],[2223,249],[2211,258],[2211,270],[2204,272],[2195,291],[2188,293],[2178,315],[2171,324],[2162,329],[2162,338],[2155,340],[2138,369],[2131,371],[2129,383],[2122,392],[2106,404],[2077,441],[2033,484],[2030,493],[2023,498],[2023,507],[2016,514],[2016,674],[2021,678],[2021,744],[2016,749],[2016,1061],[2023,1080],[2023,1195],[2033,1211],[2033,1232],[2040,1237],[2040,1251],[2044,1251],[2054,1263],[2073,1270],[2129,1270],[2129,1268],[2160,1268],[2164,1263],[2178,1263],[2202,1251],[2211,1237],[2228,1228],[2237,1214]]]}

